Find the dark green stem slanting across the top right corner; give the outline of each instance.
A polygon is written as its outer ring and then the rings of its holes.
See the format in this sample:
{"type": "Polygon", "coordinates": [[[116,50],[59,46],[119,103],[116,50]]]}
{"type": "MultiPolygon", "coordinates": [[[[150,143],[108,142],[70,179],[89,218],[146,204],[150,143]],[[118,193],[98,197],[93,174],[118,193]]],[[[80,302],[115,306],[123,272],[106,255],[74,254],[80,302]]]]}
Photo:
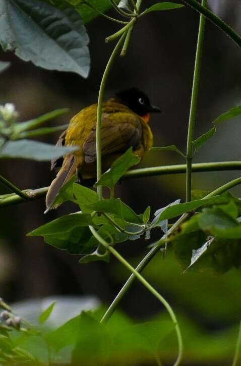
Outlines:
{"type": "Polygon", "coordinates": [[[211,12],[209,9],[203,7],[197,0],[183,0],[199,13],[203,14],[207,19],[214,23],[218,28],[224,31],[239,47],[241,47],[241,37],[237,34],[228,24],[226,24],[221,18],[211,12]]]}

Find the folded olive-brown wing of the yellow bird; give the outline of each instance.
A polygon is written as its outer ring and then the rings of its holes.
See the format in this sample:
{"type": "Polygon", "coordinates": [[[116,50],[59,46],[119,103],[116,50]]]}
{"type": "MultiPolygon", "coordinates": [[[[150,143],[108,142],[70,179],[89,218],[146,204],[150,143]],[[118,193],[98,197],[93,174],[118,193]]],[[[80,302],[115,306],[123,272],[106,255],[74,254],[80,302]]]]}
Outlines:
{"type": "MultiPolygon", "coordinates": [[[[135,149],[140,146],[141,141],[142,126],[138,116],[129,113],[125,116],[116,114],[111,119],[103,118],[101,123],[102,156],[125,152],[131,146],[135,149]]],[[[85,140],[83,152],[86,163],[96,161],[96,126],[85,140]]]]}

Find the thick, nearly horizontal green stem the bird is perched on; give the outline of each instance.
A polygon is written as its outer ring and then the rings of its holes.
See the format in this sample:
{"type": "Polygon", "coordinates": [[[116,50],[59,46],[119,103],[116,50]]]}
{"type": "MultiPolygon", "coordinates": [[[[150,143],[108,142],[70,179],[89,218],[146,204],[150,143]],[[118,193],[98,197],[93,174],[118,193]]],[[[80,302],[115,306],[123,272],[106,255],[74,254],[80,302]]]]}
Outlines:
{"type": "MultiPolygon", "coordinates": [[[[167,165],[163,167],[151,167],[143,169],[135,169],[128,171],[123,179],[132,179],[140,177],[152,177],[162,176],[168,174],[180,174],[185,173],[187,169],[186,164],[180,165],[167,165]]],[[[217,163],[197,163],[192,165],[192,171],[198,172],[215,172],[215,171],[229,171],[229,170],[241,170],[241,162],[217,162],[217,163]]],[[[232,183],[231,181],[230,183],[232,183]]],[[[227,183],[229,184],[229,183],[227,183]]],[[[231,186],[232,187],[232,186],[231,186]]],[[[231,188],[230,187],[230,188],[231,188]]],[[[0,206],[11,206],[13,204],[26,202],[26,199],[33,200],[44,197],[49,187],[43,187],[38,189],[25,189],[22,193],[27,193],[28,198],[20,197],[18,194],[5,194],[0,195],[0,206]]]]}

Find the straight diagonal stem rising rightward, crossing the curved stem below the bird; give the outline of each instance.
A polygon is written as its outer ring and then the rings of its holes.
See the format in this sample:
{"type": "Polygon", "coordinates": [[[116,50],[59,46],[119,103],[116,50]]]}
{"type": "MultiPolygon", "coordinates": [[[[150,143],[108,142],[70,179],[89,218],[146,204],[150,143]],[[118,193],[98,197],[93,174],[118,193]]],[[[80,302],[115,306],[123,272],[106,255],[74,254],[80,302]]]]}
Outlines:
{"type": "MultiPolygon", "coordinates": [[[[203,199],[213,197],[217,194],[221,194],[221,193],[225,192],[226,190],[228,190],[238,184],[241,184],[241,178],[234,179],[234,180],[222,185],[221,187],[219,187],[219,188],[215,189],[214,191],[212,191],[211,193],[209,193],[207,196],[203,197],[203,199]]],[[[188,213],[182,215],[168,230],[167,235],[172,234],[177,229],[177,227],[180,224],[182,224],[188,217],[189,217],[188,213]]],[[[160,251],[160,245],[162,245],[163,240],[165,240],[165,238],[166,238],[166,235],[163,235],[162,238],[156,243],[156,246],[151,248],[151,250],[145,255],[145,257],[141,260],[141,262],[137,266],[137,268],[135,270],[136,272],[141,273],[144,270],[144,268],[151,262],[151,259],[160,251]],[[158,245],[158,243],[159,243],[159,245],[158,245]]],[[[136,279],[136,275],[134,273],[132,273],[132,275],[129,277],[127,282],[124,284],[122,289],[119,291],[119,293],[116,295],[116,297],[114,298],[114,300],[112,301],[112,303],[110,304],[110,306],[108,307],[106,312],[104,313],[104,316],[101,319],[102,323],[108,322],[108,320],[114,313],[115,309],[117,308],[119,302],[122,300],[123,296],[127,293],[127,291],[129,290],[129,288],[131,287],[131,285],[133,284],[135,279],[136,279]]]]}

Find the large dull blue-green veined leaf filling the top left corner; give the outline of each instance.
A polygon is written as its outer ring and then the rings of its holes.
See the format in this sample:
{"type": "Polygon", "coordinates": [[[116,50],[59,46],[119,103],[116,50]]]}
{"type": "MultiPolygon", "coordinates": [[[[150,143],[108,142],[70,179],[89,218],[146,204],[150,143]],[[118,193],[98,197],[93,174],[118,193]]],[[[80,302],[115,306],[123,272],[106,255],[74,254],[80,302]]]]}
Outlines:
{"type": "Polygon", "coordinates": [[[0,44],[47,70],[89,74],[89,38],[78,13],[39,0],[2,0],[0,44]]]}

